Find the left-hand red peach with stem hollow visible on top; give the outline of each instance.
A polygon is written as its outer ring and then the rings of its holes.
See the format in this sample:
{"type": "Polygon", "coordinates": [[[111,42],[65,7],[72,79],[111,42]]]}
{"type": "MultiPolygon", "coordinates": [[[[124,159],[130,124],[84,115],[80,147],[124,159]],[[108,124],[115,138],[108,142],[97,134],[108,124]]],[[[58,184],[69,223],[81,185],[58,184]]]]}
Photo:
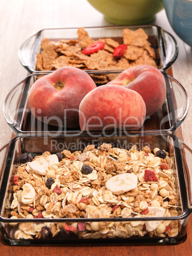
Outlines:
{"type": "Polygon", "coordinates": [[[95,88],[95,82],[85,71],[72,67],[60,68],[32,85],[29,108],[42,122],[79,127],[79,104],[95,88]]]}

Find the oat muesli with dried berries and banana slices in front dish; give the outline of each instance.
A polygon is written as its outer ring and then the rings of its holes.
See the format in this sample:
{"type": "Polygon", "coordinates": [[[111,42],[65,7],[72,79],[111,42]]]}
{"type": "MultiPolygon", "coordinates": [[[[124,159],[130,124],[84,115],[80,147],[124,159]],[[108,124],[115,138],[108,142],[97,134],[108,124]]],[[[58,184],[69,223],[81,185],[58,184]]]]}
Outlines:
{"type": "Polygon", "coordinates": [[[45,152],[17,167],[10,180],[4,217],[31,219],[16,224],[16,239],[71,233],[79,238],[177,236],[174,220],[114,221],[177,216],[179,202],[172,168],[173,159],[167,152],[158,148],[151,152],[147,146],[126,150],[104,143],[99,148],[88,145],[83,152],[45,152]],[[164,157],[158,157],[162,151],[164,157]],[[122,180],[122,175],[130,180],[122,180]],[[135,185],[130,182],[133,178],[135,185]],[[34,224],[33,218],[55,222],[34,224]],[[59,218],[71,218],[71,222],[58,223],[59,218]],[[109,221],[78,222],[76,218],[109,221]]]}

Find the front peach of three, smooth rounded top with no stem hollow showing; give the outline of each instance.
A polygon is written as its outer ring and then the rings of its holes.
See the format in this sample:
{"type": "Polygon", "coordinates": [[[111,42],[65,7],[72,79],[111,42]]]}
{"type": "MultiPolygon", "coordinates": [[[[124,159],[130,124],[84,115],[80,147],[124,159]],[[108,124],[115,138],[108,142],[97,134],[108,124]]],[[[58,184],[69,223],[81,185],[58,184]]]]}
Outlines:
{"type": "Polygon", "coordinates": [[[79,105],[81,131],[138,130],[146,117],[146,105],[134,90],[102,85],[88,92],[79,105]]]}

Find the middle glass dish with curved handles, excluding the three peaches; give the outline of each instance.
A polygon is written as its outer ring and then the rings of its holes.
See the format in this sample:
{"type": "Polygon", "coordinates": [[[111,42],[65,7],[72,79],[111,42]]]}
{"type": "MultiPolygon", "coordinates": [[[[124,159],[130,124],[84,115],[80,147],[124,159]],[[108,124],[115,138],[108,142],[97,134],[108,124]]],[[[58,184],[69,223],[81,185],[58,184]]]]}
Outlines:
{"type": "MultiPolygon", "coordinates": [[[[117,72],[120,73],[120,71],[117,72]]],[[[113,75],[113,71],[108,71],[103,75],[108,73],[113,75]]],[[[167,85],[167,97],[159,111],[151,115],[151,117],[146,117],[139,132],[174,132],[182,124],[188,113],[189,99],[186,90],[172,76],[162,73],[167,85]]],[[[94,73],[94,76],[97,74],[100,75],[101,73],[94,73]]],[[[4,102],[4,117],[15,134],[42,135],[66,134],[67,132],[82,134],[83,132],[79,127],[71,131],[67,127],[48,125],[34,118],[29,110],[28,94],[37,78],[37,74],[27,76],[11,89],[4,102]]]]}

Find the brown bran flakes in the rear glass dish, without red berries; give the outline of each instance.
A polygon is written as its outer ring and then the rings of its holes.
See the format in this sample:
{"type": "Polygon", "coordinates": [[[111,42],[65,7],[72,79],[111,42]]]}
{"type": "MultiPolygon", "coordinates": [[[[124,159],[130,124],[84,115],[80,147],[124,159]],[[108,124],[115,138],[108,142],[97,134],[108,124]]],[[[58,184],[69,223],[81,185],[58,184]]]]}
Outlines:
{"type": "MultiPolygon", "coordinates": [[[[127,50],[120,59],[113,56],[114,49],[120,45],[112,38],[94,40],[88,36],[83,27],[78,29],[78,39],[60,39],[51,41],[45,38],[41,43],[41,53],[37,53],[37,68],[40,71],[56,70],[64,66],[72,66],[83,70],[117,70],[127,69],[137,65],[150,65],[157,68],[156,52],[149,43],[148,36],[143,29],[132,31],[123,29],[123,43],[127,50]],[[82,51],[101,41],[104,48],[90,55],[82,51]]],[[[91,75],[97,83],[107,83],[116,75],[91,75]]]]}

